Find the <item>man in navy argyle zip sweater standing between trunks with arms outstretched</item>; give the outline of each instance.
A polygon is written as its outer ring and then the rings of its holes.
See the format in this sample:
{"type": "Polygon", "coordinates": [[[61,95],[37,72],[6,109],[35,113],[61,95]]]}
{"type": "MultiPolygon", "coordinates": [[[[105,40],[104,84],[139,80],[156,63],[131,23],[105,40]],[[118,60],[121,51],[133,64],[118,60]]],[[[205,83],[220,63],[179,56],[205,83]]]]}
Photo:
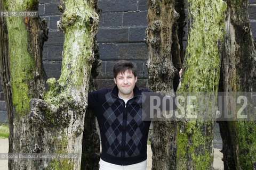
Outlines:
{"type": "Polygon", "coordinates": [[[148,90],[135,85],[137,69],[132,62],[118,62],[113,72],[113,89],[88,95],[100,128],[100,170],[145,170],[150,121],[142,120],[142,92],[148,90]]]}

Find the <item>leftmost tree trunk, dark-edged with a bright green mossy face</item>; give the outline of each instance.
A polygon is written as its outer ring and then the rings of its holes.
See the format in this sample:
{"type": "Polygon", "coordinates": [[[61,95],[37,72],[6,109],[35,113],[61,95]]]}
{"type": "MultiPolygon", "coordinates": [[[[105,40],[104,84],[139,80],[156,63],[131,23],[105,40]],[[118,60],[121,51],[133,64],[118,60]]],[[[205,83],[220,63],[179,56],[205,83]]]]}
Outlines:
{"type": "MultiPolygon", "coordinates": [[[[38,4],[30,4],[29,1],[1,1],[1,4],[6,11],[38,9],[38,4]]],[[[48,30],[39,18],[5,19],[6,23],[1,23],[4,31],[1,32],[1,77],[9,117],[9,152],[30,153],[36,149],[33,138],[38,136],[33,137],[35,127],[29,123],[29,100],[39,98],[39,91],[44,89],[46,76],[40,56],[48,30]]],[[[24,160],[9,160],[9,169],[26,168],[30,165],[31,162],[24,160]]]]}

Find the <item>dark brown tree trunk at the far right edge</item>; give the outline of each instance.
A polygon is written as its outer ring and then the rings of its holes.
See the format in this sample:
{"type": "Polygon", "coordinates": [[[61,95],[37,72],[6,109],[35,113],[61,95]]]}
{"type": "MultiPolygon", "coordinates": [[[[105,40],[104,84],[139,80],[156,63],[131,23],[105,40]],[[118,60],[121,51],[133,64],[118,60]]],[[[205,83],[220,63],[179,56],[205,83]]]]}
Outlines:
{"type": "MultiPolygon", "coordinates": [[[[255,58],[248,1],[227,0],[226,39],[220,90],[252,91],[255,58]]],[[[231,112],[230,107],[227,108],[227,112],[231,112]]],[[[251,116],[248,110],[247,114],[251,116]]],[[[256,169],[255,122],[221,121],[219,124],[225,169],[256,169]]]]}

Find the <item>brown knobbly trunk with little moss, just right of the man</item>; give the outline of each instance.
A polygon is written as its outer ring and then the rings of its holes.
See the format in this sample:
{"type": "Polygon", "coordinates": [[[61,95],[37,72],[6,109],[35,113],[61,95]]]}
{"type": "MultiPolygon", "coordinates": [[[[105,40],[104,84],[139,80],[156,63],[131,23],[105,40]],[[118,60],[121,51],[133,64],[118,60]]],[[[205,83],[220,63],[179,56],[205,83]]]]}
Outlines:
{"type": "MultiPolygon", "coordinates": [[[[182,6],[183,1],[180,3],[182,6]]],[[[182,41],[179,41],[177,33],[179,13],[174,9],[174,0],[148,1],[148,6],[146,30],[149,55],[148,88],[159,94],[174,96],[173,79],[175,74],[178,75],[178,69],[181,68],[180,54],[182,53],[180,49],[182,41]],[[172,55],[176,55],[175,58],[172,55]]],[[[183,23],[181,27],[183,28],[183,23]]],[[[152,169],[175,169],[177,149],[175,129],[174,122],[153,120],[152,169]]]]}

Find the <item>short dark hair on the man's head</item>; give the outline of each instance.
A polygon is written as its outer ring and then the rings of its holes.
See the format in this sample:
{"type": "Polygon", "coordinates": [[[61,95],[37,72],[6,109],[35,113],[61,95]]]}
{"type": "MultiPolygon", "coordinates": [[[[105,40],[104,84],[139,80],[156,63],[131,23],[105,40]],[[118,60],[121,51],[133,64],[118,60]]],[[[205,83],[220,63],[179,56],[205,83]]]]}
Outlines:
{"type": "Polygon", "coordinates": [[[134,74],[134,77],[137,76],[137,67],[135,64],[130,61],[119,61],[113,68],[114,78],[116,78],[119,72],[124,73],[126,70],[130,70],[134,74]]]}

